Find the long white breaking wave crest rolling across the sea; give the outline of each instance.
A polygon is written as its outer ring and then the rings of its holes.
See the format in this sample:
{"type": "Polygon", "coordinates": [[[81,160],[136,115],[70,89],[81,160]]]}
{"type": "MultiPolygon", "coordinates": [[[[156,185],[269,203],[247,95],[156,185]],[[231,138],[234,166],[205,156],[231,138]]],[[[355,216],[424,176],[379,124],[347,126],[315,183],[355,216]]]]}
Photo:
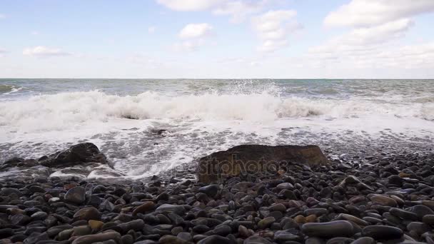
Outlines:
{"type": "Polygon", "coordinates": [[[347,100],[281,97],[275,93],[202,93],[166,96],[146,91],[136,96],[117,96],[101,91],[31,96],[26,100],[0,102],[0,126],[26,130],[56,130],[111,118],[180,121],[273,121],[279,118],[330,116],[396,116],[433,120],[432,104],[375,103],[360,98],[347,100]]]}

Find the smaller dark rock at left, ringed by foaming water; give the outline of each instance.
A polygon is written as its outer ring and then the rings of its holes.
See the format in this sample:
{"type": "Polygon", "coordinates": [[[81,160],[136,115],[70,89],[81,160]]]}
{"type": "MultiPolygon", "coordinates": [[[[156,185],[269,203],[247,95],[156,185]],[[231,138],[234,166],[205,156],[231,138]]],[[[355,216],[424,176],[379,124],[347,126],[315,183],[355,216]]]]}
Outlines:
{"type": "Polygon", "coordinates": [[[66,167],[76,166],[81,163],[108,164],[108,161],[94,143],[79,143],[65,151],[43,157],[39,160],[39,163],[46,167],[66,167]]]}

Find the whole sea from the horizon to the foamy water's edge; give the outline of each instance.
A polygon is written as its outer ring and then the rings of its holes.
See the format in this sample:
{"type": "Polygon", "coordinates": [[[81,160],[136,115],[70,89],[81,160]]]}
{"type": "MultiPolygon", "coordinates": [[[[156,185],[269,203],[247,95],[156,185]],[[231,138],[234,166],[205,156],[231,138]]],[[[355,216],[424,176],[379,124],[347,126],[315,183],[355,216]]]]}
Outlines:
{"type": "Polygon", "coordinates": [[[241,144],[355,160],[433,139],[434,80],[0,79],[0,162],[91,142],[137,179],[241,144]]]}

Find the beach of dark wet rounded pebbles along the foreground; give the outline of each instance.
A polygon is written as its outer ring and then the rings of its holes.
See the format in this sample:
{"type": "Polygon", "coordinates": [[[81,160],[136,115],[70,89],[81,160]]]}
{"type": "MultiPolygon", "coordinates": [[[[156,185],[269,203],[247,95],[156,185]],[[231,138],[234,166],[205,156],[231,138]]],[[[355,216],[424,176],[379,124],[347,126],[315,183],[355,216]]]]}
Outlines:
{"type": "Polygon", "coordinates": [[[185,179],[191,169],[149,181],[6,178],[0,243],[434,243],[432,152],[350,161],[291,162],[218,183],[185,179]]]}

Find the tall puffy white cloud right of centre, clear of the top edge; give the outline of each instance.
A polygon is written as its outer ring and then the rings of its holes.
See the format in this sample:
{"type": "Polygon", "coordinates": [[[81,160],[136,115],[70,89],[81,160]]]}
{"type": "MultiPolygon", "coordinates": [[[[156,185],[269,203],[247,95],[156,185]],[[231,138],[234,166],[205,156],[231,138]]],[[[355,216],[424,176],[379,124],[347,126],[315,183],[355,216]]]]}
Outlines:
{"type": "Polygon", "coordinates": [[[253,29],[262,41],[258,51],[272,52],[287,46],[288,36],[302,28],[294,19],[296,15],[297,12],[293,10],[278,10],[254,17],[253,29]]]}

